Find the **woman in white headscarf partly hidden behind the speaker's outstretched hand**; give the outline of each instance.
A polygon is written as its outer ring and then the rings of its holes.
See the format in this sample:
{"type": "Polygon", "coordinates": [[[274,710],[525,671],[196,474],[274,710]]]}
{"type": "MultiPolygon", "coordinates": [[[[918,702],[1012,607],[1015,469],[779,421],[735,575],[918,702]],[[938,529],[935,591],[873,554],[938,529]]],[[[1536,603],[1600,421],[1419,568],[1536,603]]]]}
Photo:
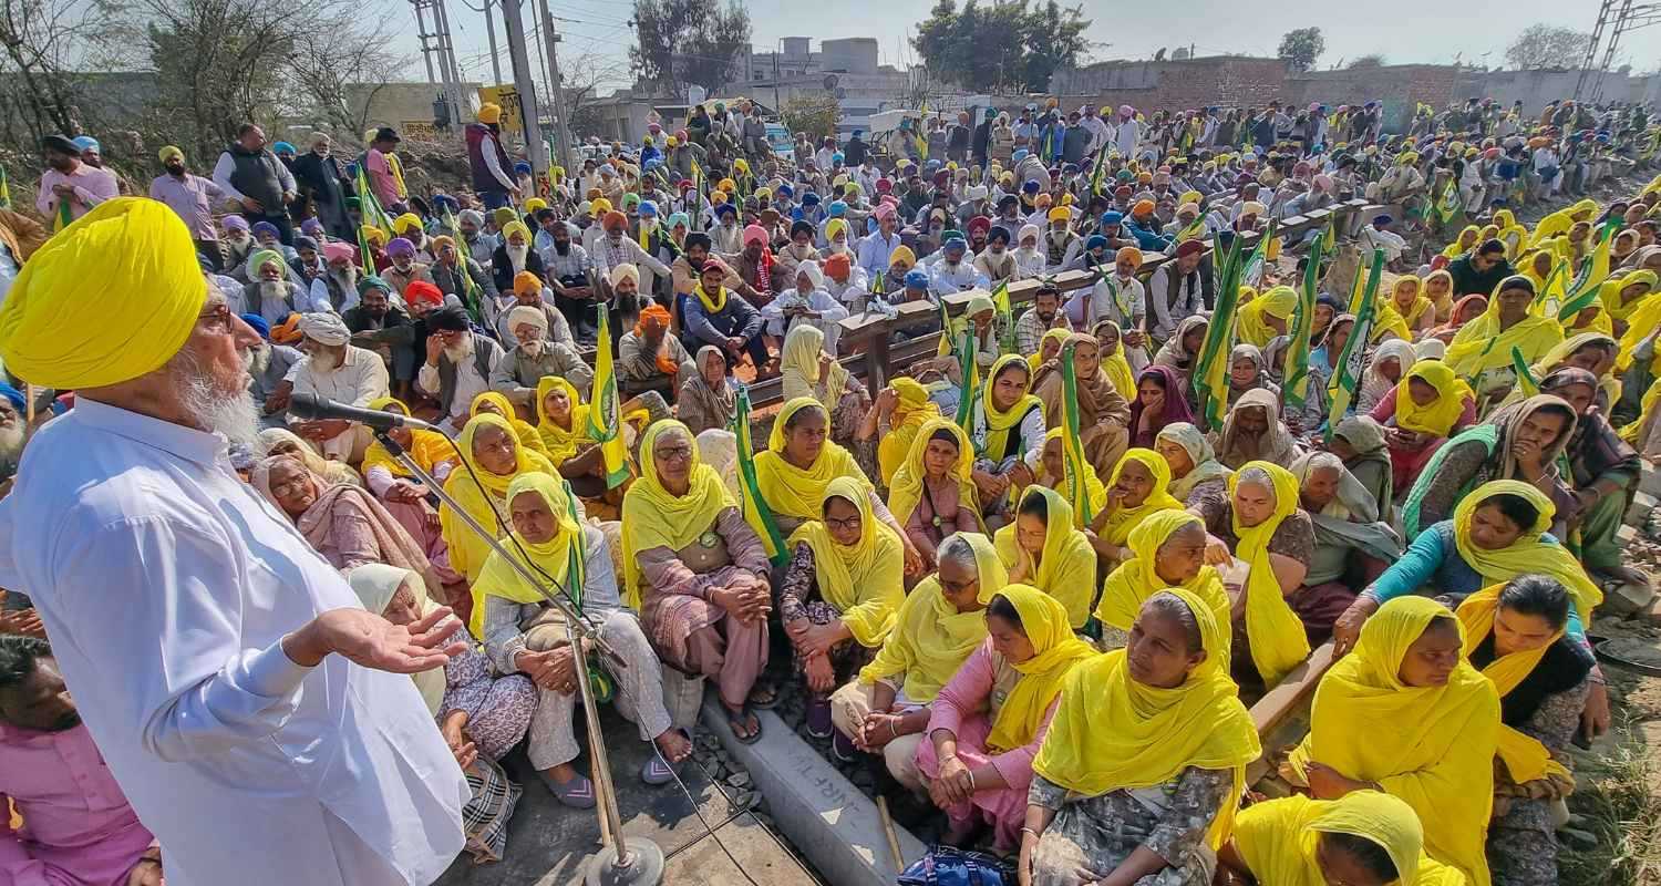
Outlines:
{"type": "MultiPolygon", "coordinates": [[[[432,612],[425,583],[407,569],[365,564],[354,569],[347,582],[364,608],[379,612],[394,625],[414,623],[432,612]]],[[[497,677],[490,658],[472,645],[452,655],[442,668],[412,673],[410,680],[439,721],[439,731],[472,791],[462,815],[467,853],[473,864],[502,861],[508,820],[523,788],[508,781],[508,773],[497,761],[525,738],[537,706],[537,688],[523,673],[497,677]]]]}

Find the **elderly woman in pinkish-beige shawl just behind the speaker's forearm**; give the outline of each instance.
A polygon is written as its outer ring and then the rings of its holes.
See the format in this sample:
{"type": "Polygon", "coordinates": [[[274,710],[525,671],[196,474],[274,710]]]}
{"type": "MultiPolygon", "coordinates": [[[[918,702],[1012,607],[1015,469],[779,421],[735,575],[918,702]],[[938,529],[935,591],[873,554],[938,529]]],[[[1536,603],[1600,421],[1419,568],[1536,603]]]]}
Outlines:
{"type": "Polygon", "coordinates": [[[364,564],[387,564],[439,587],[427,552],[367,489],[326,485],[294,455],[262,459],[254,465],[252,485],[334,569],[350,572],[364,564]]]}

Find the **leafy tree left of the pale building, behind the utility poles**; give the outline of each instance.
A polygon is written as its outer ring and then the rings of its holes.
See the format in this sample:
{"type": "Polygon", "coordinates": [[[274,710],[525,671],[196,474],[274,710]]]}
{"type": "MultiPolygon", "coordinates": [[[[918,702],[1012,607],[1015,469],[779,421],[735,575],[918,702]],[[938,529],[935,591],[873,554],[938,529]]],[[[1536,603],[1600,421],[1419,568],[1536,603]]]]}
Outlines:
{"type": "Polygon", "coordinates": [[[721,90],[749,52],[749,12],[737,0],[635,0],[630,66],[646,81],[676,93],[686,86],[721,90]]]}

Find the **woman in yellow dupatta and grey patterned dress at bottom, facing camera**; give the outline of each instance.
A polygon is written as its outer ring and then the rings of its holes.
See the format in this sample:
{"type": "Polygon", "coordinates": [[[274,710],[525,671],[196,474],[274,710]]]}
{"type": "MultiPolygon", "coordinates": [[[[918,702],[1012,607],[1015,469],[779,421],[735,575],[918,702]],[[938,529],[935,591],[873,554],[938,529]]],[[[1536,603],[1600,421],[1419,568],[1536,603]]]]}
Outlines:
{"type": "Polygon", "coordinates": [[[1211,883],[1261,753],[1227,630],[1211,603],[1161,590],[1126,648],[1073,668],[1033,760],[1023,883],[1211,883]]]}

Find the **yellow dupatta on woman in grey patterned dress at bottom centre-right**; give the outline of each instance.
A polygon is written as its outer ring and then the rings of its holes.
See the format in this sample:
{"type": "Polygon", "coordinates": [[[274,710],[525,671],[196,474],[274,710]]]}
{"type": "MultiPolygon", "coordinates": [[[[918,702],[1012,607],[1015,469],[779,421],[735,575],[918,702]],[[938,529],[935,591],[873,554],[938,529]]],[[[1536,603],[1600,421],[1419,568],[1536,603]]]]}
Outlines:
{"type": "Polygon", "coordinates": [[[1246,765],[1262,753],[1257,728],[1229,680],[1227,622],[1183,588],[1168,588],[1199,623],[1199,662],[1176,688],[1138,683],[1126,667],[1126,650],[1098,655],[1061,685],[1061,705],[1050,721],[1033,771],[1086,796],[1163,785],[1188,766],[1231,770],[1234,788],[1206,831],[1219,848],[1234,823],[1234,806],[1246,786],[1246,765]]]}

